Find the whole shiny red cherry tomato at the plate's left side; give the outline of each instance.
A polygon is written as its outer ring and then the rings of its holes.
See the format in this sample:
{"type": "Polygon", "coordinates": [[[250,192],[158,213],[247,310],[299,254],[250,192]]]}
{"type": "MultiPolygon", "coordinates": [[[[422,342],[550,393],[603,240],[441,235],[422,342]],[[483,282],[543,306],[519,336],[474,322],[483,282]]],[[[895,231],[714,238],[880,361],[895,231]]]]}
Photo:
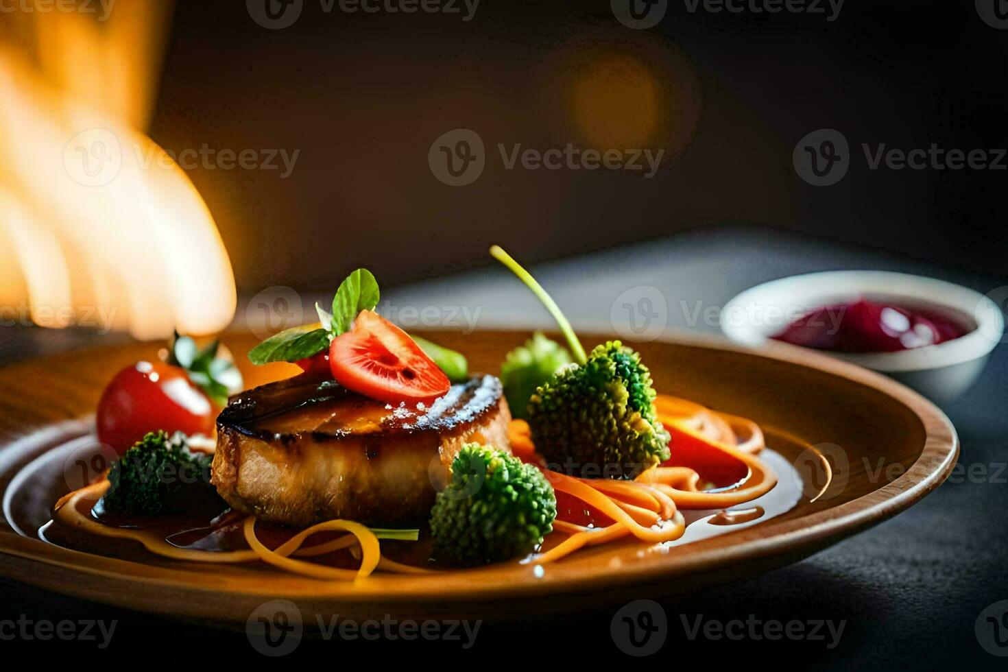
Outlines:
{"type": "Polygon", "coordinates": [[[137,362],[116,374],[98,402],[98,440],[123,454],[149,431],[211,435],[214,406],[185,372],[137,362]]]}

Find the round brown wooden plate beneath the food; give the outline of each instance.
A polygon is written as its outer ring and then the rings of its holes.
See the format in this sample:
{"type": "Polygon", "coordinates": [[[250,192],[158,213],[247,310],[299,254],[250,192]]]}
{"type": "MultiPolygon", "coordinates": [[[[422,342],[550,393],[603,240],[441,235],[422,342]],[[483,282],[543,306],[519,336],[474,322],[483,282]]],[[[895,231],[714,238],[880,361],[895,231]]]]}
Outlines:
{"type": "MultiPolygon", "coordinates": [[[[517,332],[439,333],[474,371],[496,372],[517,332]]],[[[225,343],[244,362],[247,334],[225,343]]],[[[586,337],[586,343],[599,339],[586,337]]],[[[958,454],[956,431],[932,404],[880,375],[789,349],[761,354],[708,339],[640,344],[658,390],[750,417],[794,464],[801,490],[787,513],[659,552],[639,542],[590,549],[536,569],[517,562],[434,575],[378,574],[322,582],[259,564],[173,561],[142,549],[105,557],[42,541],[54,500],[84,478],[75,450],[93,439],[98,397],[149,345],[70,353],[0,370],[0,572],[51,590],[179,617],[244,622],[272,598],[346,618],[505,618],[599,607],[697,589],[793,562],[906,509],[936,488],[958,454]],[[817,445],[836,478],[823,491],[817,445]]],[[[243,366],[246,382],[289,373],[243,366]]],[[[786,476],[782,476],[782,481],[786,476]]],[[[80,484],[77,484],[80,485],[80,484]]],[[[98,546],[97,548],[100,548],[98,546]]]]}

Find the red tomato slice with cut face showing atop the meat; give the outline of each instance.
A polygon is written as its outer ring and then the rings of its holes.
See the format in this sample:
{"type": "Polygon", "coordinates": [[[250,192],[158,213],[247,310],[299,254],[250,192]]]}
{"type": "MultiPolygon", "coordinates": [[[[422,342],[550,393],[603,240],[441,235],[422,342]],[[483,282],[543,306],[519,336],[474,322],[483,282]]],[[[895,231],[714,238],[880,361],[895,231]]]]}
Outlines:
{"type": "Polygon", "coordinates": [[[430,402],[452,383],[409,334],[372,310],[329,347],[333,378],[366,397],[388,403],[430,402]]]}

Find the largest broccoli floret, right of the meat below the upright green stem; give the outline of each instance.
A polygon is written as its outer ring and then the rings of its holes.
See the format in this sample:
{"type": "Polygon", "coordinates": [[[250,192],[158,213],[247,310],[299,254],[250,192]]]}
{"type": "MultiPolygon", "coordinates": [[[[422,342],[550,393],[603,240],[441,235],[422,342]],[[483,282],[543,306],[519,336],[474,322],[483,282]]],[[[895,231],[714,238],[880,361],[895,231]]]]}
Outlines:
{"type": "Polygon", "coordinates": [[[564,367],[532,395],[536,450],[556,471],[633,479],[669,456],[654,397],[640,355],[619,341],[599,346],[584,366],[564,367]]]}

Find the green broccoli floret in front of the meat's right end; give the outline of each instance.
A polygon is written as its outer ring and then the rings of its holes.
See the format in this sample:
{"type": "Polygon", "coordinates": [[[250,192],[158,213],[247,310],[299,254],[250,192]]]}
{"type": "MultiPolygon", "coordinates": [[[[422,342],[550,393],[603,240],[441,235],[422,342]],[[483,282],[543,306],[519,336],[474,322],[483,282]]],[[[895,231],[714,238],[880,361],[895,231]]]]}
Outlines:
{"type": "Polygon", "coordinates": [[[552,531],[554,518],[556,497],[539,469],[470,443],[430,512],[433,557],[457,566],[522,557],[552,531]]]}

